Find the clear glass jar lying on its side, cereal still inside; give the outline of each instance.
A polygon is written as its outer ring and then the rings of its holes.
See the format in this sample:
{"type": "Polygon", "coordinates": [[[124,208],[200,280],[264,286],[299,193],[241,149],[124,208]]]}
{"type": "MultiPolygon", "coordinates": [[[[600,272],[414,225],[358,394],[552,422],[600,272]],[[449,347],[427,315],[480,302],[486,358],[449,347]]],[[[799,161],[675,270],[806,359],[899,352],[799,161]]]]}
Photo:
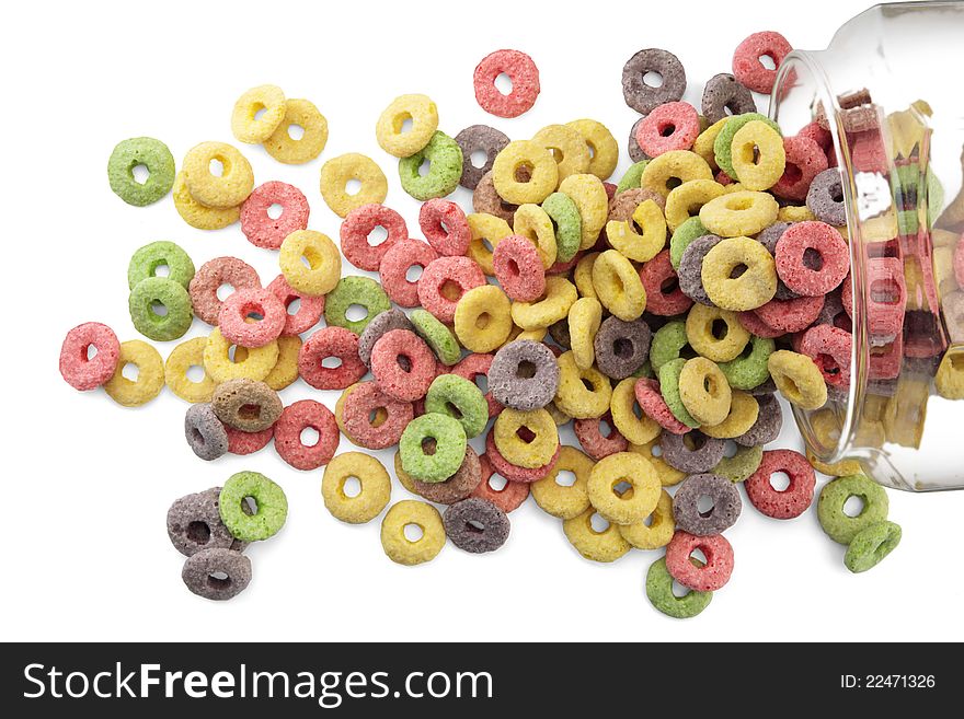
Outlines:
{"type": "Polygon", "coordinates": [[[964,487],[962,69],[964,2],[882,4],[791,53],[770,107],[836,156],[851,255],[849,386],[796,422],[812,457],[898,489],[964,487]]]}

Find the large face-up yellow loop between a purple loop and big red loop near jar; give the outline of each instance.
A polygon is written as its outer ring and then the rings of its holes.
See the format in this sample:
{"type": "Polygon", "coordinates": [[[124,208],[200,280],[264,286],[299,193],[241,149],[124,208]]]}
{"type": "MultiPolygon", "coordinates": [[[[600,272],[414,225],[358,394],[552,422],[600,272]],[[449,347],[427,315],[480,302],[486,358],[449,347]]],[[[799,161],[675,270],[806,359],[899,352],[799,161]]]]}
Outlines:
{"type": "Polygon", "coordinates": [[[733,312],[755,310],[777,293],[777,263],[761,243],[749,237],[719,242],[703,258],[700,277],[707,297],[733,312]]]}

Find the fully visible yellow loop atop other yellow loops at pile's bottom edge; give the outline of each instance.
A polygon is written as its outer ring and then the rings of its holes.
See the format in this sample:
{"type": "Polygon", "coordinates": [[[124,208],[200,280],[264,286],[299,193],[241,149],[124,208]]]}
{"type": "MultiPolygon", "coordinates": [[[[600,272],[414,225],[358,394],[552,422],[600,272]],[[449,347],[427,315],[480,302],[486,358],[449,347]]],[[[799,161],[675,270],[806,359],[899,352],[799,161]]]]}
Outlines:
{"type": "Polygon", "coordinates": [[[589,503],[607,522],[632,524],[656,509],[663,488],[645,457],[635,452],[617,452],[596,463],[586,491],[589,503]]]}

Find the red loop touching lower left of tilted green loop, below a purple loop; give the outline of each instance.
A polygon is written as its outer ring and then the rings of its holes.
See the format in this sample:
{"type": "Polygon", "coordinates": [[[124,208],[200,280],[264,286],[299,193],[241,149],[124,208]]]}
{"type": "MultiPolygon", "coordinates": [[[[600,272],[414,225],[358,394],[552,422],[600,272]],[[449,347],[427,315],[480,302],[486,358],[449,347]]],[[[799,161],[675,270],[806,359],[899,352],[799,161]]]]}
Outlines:
{"type": "Polygon", "coordinates": [[[428,392],[436,376],[435,353],[408,329],[385,333],[371,348],[371,374],[393,399],[414,402],[428,392]]]}

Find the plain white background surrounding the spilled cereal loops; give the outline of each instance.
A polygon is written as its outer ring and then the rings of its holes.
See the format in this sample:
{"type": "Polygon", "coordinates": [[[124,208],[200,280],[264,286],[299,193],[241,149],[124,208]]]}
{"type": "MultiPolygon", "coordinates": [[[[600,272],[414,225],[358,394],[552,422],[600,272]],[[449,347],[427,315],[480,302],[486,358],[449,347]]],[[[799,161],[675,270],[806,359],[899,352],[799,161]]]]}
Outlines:
{"type": "MultiPolygon", "coordinates": [[[[790,522],[748,503],[727,532],[736,552],[730,583],[708,611],[676,622],[643,592],[656,553],[613,565],[582,559],[558,520],[530,500],[510,515],[508,543],[486,556],[451,545],[416,568],[392,564],[379,520],[348,526],[320,496],[322,472],[297,472],[268,447],[205,463],[188,450],[186,405],[169,391],[139,409],[103,392],[77,393],[57,372],[64,334],[97,320],[122,340],[130,254],[154,240],[180,243],[199,266],[218,255],[253,264],[267,282],[276,256],[236,224],[206,233],[181,221],[170,196],[148,208],[115,197],[105,173],[127,137],[164,140],[180,165],[203,140],[233,140],[229,117],[245,89],[275,83],[312,100],[328,117],[321,159],[290,167],[260,147],[239,146],[259,183],[297,184],[310,228],[337,237],[318,174],[347,151],[372,156],[390,179],[388,205],[417,235],[418,205],[400,188],[395,161],[375,141],[380,111],[395,95],[429,94],[440,129],[474,123],[512,138],[578,117],[609,126],[629,165],[635,119],[620,73],[630,55],[665,47],[702,82],[728,71],[748,33],[779,30],[796,47],[823,48],[864,0],[799,3],[174,2],[16,3],[0,42],[4,78],[0,183],[3,212],[4,639],[119,640],[713,640],[962,639],[964,579],[957,560],[964,494],[891,492],[900,547],[862,576],[815,512],[790,522]],[[518,119],[475,104],[472,70],[487,53],[515,47],[539,66],[542,93],[518,119]],[[228,603],[191,594],[183,557],[164,531],[175,498],[256,469],[290,500],[284,531],[251,547],[254,579],[228,603]]],[[[766,111],[766,103],[760,102],[766,111]]],[[[468,207],[469,196],[456,196],[468,207]]],[[[345,263],[346,271],[352,271],[345,263]]],[[[195,320],[188,336],[208,332],[195,320]]],[[[174,343],[159,345],[163,356],[174,343]]],[[[298,382],[286,403],[321,397],[298,382]]],[[[797,447],[792,427],[780,445],[797,447]]],[[[342,450],[354,449],[346,441],[342,450]]],[[[822,478],[823,482],[823,478],[822,478]]],[[[398,484],[392,499],[409,498],[398,484]]]]}

